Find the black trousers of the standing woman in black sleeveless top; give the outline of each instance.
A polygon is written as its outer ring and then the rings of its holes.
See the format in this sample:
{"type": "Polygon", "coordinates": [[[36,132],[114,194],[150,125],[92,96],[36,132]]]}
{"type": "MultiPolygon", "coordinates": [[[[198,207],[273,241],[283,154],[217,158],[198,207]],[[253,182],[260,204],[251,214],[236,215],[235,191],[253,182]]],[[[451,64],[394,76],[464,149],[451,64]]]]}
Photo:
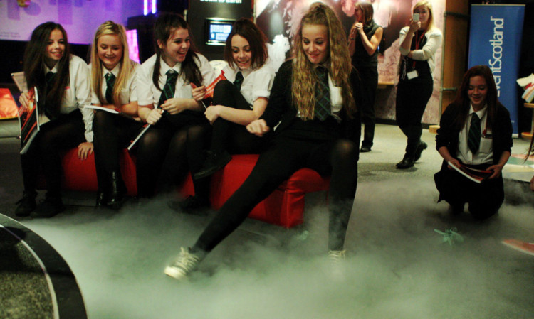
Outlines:
{"type": "Polygon", "coordinates": [[[358,70],[362,79],[362,124],[364,126],[362,146],[372,146],[375,139],[375,97],[377,95],[378,71],[362,67],[358,70]],[[360,70],[361,69],[361,70],[360,70]]]}

